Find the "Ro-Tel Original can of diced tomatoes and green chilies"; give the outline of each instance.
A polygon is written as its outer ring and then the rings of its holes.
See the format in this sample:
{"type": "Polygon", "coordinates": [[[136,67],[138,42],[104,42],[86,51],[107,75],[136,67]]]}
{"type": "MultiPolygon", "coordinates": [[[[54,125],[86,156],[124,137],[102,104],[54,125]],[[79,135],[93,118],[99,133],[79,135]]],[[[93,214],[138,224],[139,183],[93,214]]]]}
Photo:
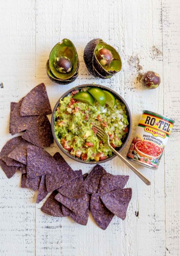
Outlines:
{"type": "Polygon", "coordinates": [[[173,124],[171,118],[143,110],[127,159],[157,169],[173,124]]]}

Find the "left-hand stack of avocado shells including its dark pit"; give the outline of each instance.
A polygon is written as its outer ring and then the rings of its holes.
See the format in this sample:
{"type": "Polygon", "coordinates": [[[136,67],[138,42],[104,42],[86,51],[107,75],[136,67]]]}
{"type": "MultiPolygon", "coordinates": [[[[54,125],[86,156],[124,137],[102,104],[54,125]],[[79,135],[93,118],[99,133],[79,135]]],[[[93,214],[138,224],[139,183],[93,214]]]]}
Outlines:
{"type": "Polygon", "coordinates": [[[69,39],[57,43],[46,63],[48,77],[58,84],[69,84],[78,76],[79,59],[74,44],[69,39]]]}

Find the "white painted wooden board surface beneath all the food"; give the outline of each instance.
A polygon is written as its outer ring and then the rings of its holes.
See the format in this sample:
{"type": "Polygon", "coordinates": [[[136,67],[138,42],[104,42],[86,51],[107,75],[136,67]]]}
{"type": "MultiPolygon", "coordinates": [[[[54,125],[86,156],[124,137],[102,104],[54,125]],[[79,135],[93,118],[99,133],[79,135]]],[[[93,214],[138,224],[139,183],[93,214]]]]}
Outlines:
{"type": "MultiPolygon", "coordinates": [[[[175,119],[164,158],[157,171],[136,166],[150,180],[147,187],[117,157],[103,164],[112,174],[130,175],[133,195],[127,218],[114,217],[103,231],[90,216],[87,226],[43,214],[36,194],[20,188],[20,173],[0,172],[1,256],[179,256],[179,0],[1,0],[0,2],[0,148],[8,134],[10,102],[20,100],[44,82],[51,107],[69,88],[95,82],[113,88],[127,101],[134,130],[143,109],[175,119]],[[54,84],[45,65],[52,47],[69,38],[77,48],[79,77],[69,85],[54,84]],[[120,52],[122,71],[110,80],[94,79],[83,61],[89,40],[102,38],[120,52]],[[139,83],[141,72],[161,76],[155,90],[139,83]],[[135,212],[139,211],[139,216],[135,212]]],[[[50,118],[50,116],[49,116],[50,118]]],[[[123,150],[125,156],[128,146],[123,150]]],[[[56,144],[47,149],[59,151],[56,144]]],[[[91,170],[63,155],[71,167],[91,170]]]]}

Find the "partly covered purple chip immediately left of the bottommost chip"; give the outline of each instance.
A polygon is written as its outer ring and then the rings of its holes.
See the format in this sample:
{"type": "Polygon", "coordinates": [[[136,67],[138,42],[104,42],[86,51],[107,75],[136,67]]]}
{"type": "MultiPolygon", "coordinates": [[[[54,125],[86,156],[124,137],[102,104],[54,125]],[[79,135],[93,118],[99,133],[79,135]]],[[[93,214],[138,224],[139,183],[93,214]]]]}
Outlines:
{"type": "Polygon", "coordinates": [[[84,226],[87,225],[87,221],[89,218],[89,209],[86,209],[83,216],[79,216],[76,213],[69,210],[66,206],[62,205],[62,212],[63,214],[66,214],[66,216],[71,217],[71,219],[73,219],[76,223],[84,226]]]}

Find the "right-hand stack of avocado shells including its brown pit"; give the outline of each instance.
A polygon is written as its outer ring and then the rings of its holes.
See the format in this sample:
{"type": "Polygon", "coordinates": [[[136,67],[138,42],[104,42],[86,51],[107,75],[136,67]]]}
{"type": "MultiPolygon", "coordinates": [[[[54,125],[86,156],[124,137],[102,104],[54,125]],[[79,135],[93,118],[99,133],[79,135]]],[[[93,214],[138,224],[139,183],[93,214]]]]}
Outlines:
{"type": "Polygon", "coordinates": [[[84,62],[94,77],[111,78],[122,67],[119,53],[111,45],[96,38],[91,40],[84,49],[84,62]]]}

